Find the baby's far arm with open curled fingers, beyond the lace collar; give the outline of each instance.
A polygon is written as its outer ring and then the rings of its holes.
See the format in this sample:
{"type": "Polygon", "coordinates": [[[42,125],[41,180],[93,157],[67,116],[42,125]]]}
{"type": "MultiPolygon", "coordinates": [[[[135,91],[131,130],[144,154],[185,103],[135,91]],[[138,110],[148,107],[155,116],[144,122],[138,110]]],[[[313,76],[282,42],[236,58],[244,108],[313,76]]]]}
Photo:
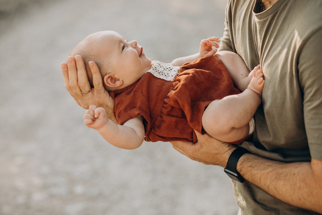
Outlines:
{"type": "Polygon", "coordinates": [[[176,58],[171,62],[171,64],[174,66],[182,66],[183,64],[192,62],[200,57],[214,55],[217,52],[217,49],[213,49],[212,47],[215,46],[216,48],[219,48],[219,45],[215,42],[220,42],[218,37],[209,37],[206,40],[202,40],[200,42],[199,53],[176,58]]]}

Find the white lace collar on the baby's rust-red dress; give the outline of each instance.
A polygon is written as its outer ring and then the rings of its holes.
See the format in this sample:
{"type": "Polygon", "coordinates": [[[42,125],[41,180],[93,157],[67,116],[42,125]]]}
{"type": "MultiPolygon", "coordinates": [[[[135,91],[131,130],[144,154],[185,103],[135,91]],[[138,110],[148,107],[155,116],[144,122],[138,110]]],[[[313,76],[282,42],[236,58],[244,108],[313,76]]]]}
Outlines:
{"type": "Polygon", "coordinates": [[[147,72],[152,73],[157,78],[173,81],[178,71],[179,66],[162,63],[160,61],[152,61],[151,68],[147,72]]]}

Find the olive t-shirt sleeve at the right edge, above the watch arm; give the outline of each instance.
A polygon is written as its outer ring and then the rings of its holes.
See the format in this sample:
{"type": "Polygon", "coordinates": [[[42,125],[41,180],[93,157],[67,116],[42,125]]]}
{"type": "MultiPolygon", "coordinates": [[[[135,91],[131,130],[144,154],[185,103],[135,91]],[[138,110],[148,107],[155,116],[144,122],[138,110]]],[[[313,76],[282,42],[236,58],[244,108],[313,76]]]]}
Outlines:
{"type": "Polygon", "coordinates": [[[311,157],[322,160],[322,28],[304,44],[298,61],[305,129],[311,157]]]}

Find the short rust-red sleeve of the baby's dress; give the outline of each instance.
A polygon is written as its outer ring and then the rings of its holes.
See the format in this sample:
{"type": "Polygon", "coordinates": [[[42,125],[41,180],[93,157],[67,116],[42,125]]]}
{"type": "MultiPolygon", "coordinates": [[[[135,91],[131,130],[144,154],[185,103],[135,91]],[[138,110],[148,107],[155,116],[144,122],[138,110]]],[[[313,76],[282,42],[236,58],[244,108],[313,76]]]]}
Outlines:
{"type": "Polygon", "coordinates": [[[151,122],[147,98],[137,91],[118,95],[115,98],[114,112],[116,121],[120,125],[137,115],[141,115],[148,124],[151,122]]]}

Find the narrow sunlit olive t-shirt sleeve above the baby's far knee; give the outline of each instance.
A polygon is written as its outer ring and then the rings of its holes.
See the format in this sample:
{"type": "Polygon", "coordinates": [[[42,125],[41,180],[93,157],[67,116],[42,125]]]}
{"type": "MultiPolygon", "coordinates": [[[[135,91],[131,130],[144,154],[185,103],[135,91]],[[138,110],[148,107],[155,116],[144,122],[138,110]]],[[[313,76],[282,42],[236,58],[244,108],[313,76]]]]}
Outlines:
{"type": "Polygon", "coordinates": [[[220,51],[233,51],[232,50],[232,41],[231,41],[231,35],[230,35],[230,23],[229,20],[231,20],[232,16],[232,11],[231,11],[231,0],[228,1],[226,5],[226,10],[225,10],[225,28],[224,28],[224,33],[223,37],[220,38],[220,46],[218,48],[218,52],[220,51]]]}

